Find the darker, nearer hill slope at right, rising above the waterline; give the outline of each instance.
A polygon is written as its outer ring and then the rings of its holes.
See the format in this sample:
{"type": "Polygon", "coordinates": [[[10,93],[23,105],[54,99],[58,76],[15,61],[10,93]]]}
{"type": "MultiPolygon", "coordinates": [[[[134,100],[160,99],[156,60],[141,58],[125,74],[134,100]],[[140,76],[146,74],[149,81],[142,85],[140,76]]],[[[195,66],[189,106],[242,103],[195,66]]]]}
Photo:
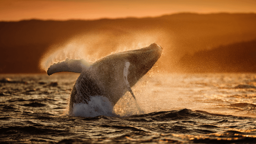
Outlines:
{"type": "Polygon", "coordinates": [[[184,55],[180,72],[256,72],[256,40],[184,55]]]}

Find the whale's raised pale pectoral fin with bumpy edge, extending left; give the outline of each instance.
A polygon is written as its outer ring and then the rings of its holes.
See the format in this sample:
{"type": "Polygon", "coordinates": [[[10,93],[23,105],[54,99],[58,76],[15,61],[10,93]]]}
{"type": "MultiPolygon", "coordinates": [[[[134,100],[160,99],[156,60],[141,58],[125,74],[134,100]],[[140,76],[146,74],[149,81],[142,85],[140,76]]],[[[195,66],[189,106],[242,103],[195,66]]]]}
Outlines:
{"type": "Polygon", "coordinates": [[[50,66],[47,70],[47,74],[50,76],[57,72],[75,72],[75,73],[81,73],[83,69],[89,68],[90,64],[85,61],[84,59],[80,60],[72,60],[72,59],[66,59],[65,61],[54,63],[50,66]]]}

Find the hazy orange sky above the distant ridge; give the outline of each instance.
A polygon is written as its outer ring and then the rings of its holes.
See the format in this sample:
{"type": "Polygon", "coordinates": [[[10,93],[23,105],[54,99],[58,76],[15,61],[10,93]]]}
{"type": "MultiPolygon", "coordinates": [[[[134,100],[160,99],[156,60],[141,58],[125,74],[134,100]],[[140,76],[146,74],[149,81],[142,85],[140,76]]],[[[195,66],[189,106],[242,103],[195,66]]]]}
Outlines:
{"type": "Polygon", "coordinates": [[[256,0],[0,0],[0,20],[160,16],[178,12],[254,12],[256,0]]]}

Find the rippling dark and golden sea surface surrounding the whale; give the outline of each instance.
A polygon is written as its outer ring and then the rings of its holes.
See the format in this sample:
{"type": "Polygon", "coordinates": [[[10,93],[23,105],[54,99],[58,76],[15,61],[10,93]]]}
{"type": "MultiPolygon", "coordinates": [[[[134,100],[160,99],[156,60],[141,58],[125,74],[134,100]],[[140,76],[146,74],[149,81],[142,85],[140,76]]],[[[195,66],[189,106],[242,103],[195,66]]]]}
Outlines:
{"type": "Polygon", "coordinates": [[[256,74],[148,73],[68,114],[79,74],[1,74],[0,143],[256,143],[256,74]]]}

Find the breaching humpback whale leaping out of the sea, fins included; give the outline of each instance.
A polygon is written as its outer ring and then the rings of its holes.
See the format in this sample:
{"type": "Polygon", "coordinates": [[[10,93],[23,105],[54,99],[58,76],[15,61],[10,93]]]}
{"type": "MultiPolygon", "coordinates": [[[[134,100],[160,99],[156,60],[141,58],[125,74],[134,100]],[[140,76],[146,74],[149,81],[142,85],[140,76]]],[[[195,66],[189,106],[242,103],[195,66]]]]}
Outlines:
{"type": "Polygon", "coordinates": [[[69,112],[75,103],[86,103],[90,96],[105,96],[114,106],[128,90],[156,63],[163,48],[156,43],[148,47],[108,55],[89,65],[85,60],[65,60],[50,66],[47,74],[56,72],[76,72],[76,79],[70,94],[69,112]]]}

